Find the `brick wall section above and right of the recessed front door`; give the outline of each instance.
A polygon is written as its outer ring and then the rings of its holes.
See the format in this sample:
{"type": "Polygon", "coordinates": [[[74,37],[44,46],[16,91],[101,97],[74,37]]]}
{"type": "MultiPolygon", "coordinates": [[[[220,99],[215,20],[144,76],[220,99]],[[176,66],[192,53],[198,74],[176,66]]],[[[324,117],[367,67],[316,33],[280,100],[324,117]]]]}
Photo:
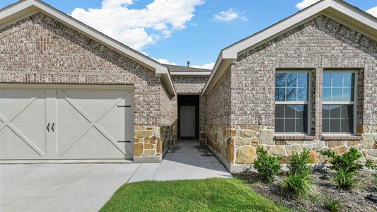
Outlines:
{"type": "MultiPolygon", "coordinates": [[[[178,95],[200,95],[207,83],[209,76],[172,76],[173,84],[178,95]]],[[[175,100],[176,101],[176,100],[175,100]]],[[[175,112],[178,117],[178,113],[175,112]]],[[[204,145],[207,142],[206,128],[206,103],[202,96],[199,96],[199,143],[204,145]]]]}

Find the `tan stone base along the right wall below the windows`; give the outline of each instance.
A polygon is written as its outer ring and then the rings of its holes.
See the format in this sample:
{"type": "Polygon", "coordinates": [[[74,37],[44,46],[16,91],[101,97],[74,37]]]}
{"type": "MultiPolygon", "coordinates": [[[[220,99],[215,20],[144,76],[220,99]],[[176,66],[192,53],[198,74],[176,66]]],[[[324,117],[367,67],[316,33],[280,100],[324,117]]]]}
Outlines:
{"type": "Polygon", "coordinates": [[[314,136],[276,136],[272,126],[209,125],[206,128],[207,145],[232,172],[252,168],[258,147],[270,155],[283,156],[282,164],[288,163],[293,153],[304,149],[309,151],[313,164],[323,164],[327,163],[327,156],[320,151],[330,149],[343,154],[351,147],[363,153],[361,162],[368,159],[377,163],[377,127],[373,133],[363,136],[322,136],[320,140],[314,136]]]}

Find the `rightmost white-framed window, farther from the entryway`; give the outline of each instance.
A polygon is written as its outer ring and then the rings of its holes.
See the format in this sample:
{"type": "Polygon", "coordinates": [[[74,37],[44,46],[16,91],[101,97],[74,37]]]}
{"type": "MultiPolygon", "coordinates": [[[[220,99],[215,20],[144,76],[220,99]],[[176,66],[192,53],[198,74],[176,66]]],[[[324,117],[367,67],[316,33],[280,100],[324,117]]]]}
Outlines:
{"type": "Polygon", "coordinates": [[[323,73],[322,131],[329,134],[354,134],[356,116],[356,72],[323,73]]]}

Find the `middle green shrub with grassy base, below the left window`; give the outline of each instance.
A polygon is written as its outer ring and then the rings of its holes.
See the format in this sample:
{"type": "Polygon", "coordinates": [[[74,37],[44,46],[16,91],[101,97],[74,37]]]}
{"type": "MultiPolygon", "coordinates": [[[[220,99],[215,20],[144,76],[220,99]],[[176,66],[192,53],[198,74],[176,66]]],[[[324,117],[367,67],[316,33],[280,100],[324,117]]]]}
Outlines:
{"type": "Polygon", "coordinates": [[[289,175],[282,184],[282,194],[289,193],[291,196],[301,197],[310,191],[313,184],[310,177],[313,168],[308,163],[311,162],[308,150],[292,155],[291,162],[288,164],[289,175]]]}

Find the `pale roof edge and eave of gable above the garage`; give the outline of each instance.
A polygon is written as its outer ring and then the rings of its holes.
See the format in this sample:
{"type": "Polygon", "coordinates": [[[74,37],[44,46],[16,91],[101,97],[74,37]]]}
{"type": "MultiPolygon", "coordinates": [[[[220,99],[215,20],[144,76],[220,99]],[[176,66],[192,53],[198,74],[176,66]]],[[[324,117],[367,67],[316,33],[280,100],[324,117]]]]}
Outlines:
{"type": "Polygon", "coordinates": [[[173,96],[175,95],[175,89],[173,86],[173,82],[170,78],[170,73],[168,68],[163,64],[160,64],[158,61],[147,57],[136,50],[127,47],[126,45],[118,42],[117,40],[112,39],[111,37],[100,33],[98,30],[95,30],[88,25],[72,18],[71,16],[63,13],[62,11],[57,10],[56,8],[46,4],[40,0],[21,0],[16,2],[15,4],[11,4],[2,8],[0,10],[0,28],[4,28],[6,25],[10,25],[12,23],[17,22],[18,20],[22,20],[23,18],[27,18],[28,16],[33,15],[34,13],[42,12],[45,13],[47,16],[51,16],[52,18],[58,20],[59,22],[64,23],[64,25],[69,26],[70,28],[74,28],[75,30],[79,31],[79,33],[83,33],[84,35],[91,37],[91,39],[100,42],[102,45],[110,47],[110,49],[115,50],[116,52],[123,54],[125,57],[129,57],[140,64],[146,66],[147,68],[155,71],[156,77],[161,77],[163,84],[166,86],[168,93],[173,96]]]}

